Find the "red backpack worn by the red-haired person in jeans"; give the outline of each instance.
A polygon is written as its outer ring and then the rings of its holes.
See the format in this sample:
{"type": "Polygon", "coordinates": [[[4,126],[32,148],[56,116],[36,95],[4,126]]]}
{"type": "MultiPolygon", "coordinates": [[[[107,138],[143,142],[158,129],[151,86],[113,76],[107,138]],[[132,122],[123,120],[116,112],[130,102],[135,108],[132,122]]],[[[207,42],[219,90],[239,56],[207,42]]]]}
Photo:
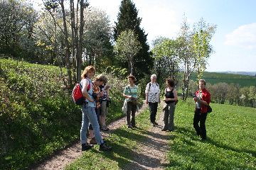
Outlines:
{"type": "MultiPolygon", "coordinates": [[[[87,86],[87,91],[90,90],[90,83],[87,86]]],[[[82,105],[85,103],[85,97],[82,95],[82,84],[75,84],[73,91],[72,91],[72,98],[75,104],[82,105]]]]}

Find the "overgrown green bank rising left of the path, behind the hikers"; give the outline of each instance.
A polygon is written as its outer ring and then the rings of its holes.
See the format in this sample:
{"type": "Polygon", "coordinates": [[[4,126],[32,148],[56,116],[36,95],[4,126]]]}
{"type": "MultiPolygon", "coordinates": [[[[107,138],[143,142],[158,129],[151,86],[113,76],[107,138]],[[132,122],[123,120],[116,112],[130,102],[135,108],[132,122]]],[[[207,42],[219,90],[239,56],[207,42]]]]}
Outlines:
{"type": "MultiPolygon", "coordinates": [[[[80,107],[60,77],[58,67],[0,60],[1,168],[26,169],[79,139],[80,107]]],[[[122,92],[127,81],[112,74],[107,77],[110,123],[123,116],[122,92]]]]}

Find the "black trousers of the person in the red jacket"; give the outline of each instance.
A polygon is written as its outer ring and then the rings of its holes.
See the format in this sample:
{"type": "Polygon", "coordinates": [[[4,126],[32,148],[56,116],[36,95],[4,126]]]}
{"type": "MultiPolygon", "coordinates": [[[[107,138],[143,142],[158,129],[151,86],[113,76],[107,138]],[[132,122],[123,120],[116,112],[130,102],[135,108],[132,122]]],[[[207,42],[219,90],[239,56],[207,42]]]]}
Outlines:
{"type": "Polygon", "coordinates": [[[196,108],[193,118],[193,128],[195,128],[197,135],[201,135],[203,140],[206,139],[206,117],[207,113],[201,113],[201,108],[196,108]]]}

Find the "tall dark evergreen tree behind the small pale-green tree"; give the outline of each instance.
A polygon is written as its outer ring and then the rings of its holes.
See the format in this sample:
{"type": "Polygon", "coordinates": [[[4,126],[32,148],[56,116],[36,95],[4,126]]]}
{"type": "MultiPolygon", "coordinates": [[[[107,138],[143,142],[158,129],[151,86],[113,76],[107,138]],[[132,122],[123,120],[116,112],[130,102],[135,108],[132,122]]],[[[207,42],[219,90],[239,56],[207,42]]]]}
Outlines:
{"type": "MultiPolygon", "coordinates": [[[[138,17],[138,11],[132,0],[122,0],[117,16],[117,23],[114,28],[114,40],[117,41],[118,36],[124,30],[133,30],[138,37],[138,41],[142,48],[136,56],[134,56],[134,75],[137,79],[142,79],[144,75],[150,74],[153,67],[153,60],[149,55],[149,45],[146,43],[144,30],[139,27],[142,18],[138,17]],[[143,66],[143,67],[142,67],[143,66]]],[[[117,61],[119,62],[119,61],[117,61]]],[[[120,67],[128,69],[127,63],[118,63],[120,67]]]]}

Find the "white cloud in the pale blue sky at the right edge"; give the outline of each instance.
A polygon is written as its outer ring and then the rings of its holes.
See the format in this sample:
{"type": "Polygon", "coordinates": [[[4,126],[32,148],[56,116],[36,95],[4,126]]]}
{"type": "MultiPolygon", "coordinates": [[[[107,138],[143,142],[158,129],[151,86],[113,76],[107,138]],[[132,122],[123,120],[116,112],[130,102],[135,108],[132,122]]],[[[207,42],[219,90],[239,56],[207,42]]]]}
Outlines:
{"type": "Polygon", "coordinates": [[[232,33],[225,35],[225,45],[244,47],[247,49],[256,48],[256,23],[240,26],[232,33]]]}

